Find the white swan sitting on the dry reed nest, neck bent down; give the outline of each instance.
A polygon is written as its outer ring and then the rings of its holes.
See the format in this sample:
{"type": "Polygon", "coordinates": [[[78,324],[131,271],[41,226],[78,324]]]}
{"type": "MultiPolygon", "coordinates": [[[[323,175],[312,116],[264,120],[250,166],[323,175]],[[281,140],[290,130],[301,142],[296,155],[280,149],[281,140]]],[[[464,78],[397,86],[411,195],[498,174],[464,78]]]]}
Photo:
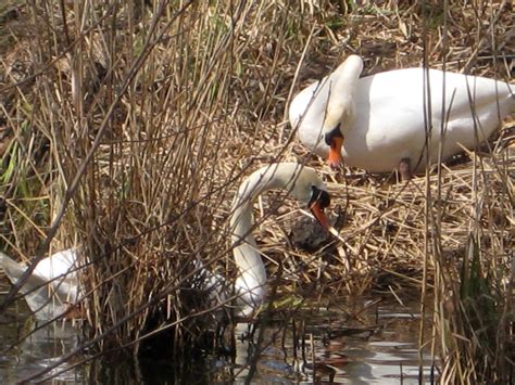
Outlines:
{"type": "Polygon", "coordinates": [[[343,157],[370,172],[399,168],[409,179],[425,169],[425,114],[432,123],[427,155],[436,164],[440,144],[442,159],[462,146],[474,149],[515,112],[514,85],[507,82],[438,69],[428,69],[426,77],[424,68],[360,78],[362,70],[362,59],[349,56],[299,92],[289,108],[301,142],[331,167],[343,157]],[[428,90],[430,111],[425,108],[428,90]]]}

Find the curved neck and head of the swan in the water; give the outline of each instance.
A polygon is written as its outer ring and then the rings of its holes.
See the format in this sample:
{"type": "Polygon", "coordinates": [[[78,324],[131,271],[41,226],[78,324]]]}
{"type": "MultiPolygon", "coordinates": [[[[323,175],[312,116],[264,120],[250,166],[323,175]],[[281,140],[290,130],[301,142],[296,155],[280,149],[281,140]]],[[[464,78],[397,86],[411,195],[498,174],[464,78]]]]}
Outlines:
{"type": "Polygon", "coordinates": [[[301,204],[307,205],[318,222],[328,228],[324,214],[329,194],[316,171],[297,163],[272,164],[254,171],[240,185],[233,205],[230,229],[233,254],[238,267],[235,288],[239,295],[241,316],[251,315],[266,296],[267,278],[265,266],[252,236],[252,203],[271,189],[284,189],[301,204]]]}

